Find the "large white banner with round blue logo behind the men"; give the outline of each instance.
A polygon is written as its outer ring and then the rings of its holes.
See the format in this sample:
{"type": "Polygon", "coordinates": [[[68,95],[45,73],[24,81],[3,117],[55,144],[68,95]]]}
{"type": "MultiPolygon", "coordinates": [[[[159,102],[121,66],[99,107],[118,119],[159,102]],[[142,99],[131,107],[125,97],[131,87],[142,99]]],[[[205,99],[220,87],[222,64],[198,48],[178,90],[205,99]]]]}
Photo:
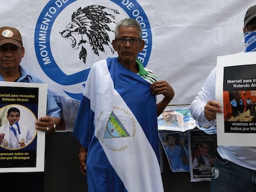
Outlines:
{"type": "MultiPolygon", "coordinates": [[[[139,59],[175,91],[171,104],[190,104],[216,57],[244,51],[243,20],[253,0],[12,0],[1,25],[23,36],[22,65],[64,98],[77,99],[96,61],[117,56],[116,22],[137,19],[145,49],[139,59]]],[[[161,96],[160,98],[161,99],[161,96]]]]}

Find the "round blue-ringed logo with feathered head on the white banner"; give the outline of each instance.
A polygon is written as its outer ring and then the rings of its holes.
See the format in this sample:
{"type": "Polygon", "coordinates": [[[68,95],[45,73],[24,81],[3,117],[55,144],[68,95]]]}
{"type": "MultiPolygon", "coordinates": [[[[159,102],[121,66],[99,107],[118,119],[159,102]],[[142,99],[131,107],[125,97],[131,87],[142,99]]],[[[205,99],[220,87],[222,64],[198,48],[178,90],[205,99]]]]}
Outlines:
{"type": "Polygon", "coordinates": [[[56,93],[80,100],[93,63],[117,56],[111,42],[119,20],[130,17],[142,26],[145,48],[138,59],[147,65],[151,28],[137,1],[51,0],[38,17],[35,52],[41,69],[56,93]]]}

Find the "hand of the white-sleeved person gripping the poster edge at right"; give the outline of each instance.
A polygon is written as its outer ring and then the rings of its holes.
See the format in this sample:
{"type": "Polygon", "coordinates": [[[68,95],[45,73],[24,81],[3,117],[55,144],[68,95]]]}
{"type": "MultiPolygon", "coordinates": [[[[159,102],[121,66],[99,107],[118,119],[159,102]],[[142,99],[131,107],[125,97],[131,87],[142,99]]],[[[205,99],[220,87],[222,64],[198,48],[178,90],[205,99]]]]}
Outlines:
{"type": "Polygon", "coordinates": [[[210,121],[216,119],[216,112],[223,112],[221,104],[217,101],[210,100],[205,105],[205,118],[210,121]]]}

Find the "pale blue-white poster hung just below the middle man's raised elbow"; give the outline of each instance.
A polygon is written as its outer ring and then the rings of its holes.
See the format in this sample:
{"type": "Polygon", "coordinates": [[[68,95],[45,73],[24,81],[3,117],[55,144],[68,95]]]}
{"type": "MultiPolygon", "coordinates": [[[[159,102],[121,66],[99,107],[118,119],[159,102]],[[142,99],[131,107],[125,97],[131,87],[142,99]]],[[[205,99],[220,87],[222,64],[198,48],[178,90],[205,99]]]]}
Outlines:
{"type": "Polygon", "coordinates": [[[158,117],[158,130],[187,131],[197,127],[189,107],[190,105],[166,106],[158,117]]]}

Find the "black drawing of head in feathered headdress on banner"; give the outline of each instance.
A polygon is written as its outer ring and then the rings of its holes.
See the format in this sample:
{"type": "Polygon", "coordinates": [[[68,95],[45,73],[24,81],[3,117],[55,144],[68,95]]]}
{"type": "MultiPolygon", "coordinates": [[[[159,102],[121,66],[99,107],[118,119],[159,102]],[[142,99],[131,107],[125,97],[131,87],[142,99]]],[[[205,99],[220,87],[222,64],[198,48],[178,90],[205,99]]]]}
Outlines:
{"type": "Polygon", "coordinates": [[[108,35],[108,31],[114,32],[108,26],[108,23],[116,23],[114,14],[119,14],[118,10],[104,6],[93,5],[83,9],[79,7],[72,14],[71,22],[60,32],[63,38],[72,41],[72,48],[80,48],[79,59],[82,59],[84,64],[86,63],[87,49],[83,44],[90,44],[90,48],[97,56],[99,56],[99,51],[105,52],[104,45],[108,46],[114,54],[108,35]],[[108,10],[113,14],[109,13],[108,10]]]}

